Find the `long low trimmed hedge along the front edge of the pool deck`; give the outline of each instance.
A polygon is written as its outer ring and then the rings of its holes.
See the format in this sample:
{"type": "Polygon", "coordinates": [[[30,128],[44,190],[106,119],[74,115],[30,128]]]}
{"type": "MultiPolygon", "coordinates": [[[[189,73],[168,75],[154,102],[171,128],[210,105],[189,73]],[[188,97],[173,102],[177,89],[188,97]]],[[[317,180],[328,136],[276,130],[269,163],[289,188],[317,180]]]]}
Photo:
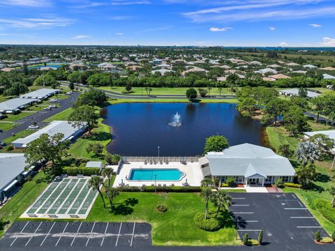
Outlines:
{"type": "MultiPolygon", "coordinates": [[[[153,185],[134,187],[134,186],[120,186],[117,188],[120,192],[155,192],[153,185]]],[[[157,192],[201,192],[200,187],[179,187],[179,186],[157,186],[157,192]]]]}

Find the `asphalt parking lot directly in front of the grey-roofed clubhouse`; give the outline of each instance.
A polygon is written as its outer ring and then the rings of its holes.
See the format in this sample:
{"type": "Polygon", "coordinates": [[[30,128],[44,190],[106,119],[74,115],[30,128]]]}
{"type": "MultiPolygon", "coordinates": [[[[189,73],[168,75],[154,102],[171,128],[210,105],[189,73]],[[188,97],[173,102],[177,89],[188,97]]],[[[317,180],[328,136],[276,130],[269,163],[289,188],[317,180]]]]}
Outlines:
{"type": "Polygon", "coordinates": [[[300,199],[292,193],[233,193],[230,210],[239,237],[244,234],[271,244],[313,243],[315,231],[326,232],[300,199]]]}

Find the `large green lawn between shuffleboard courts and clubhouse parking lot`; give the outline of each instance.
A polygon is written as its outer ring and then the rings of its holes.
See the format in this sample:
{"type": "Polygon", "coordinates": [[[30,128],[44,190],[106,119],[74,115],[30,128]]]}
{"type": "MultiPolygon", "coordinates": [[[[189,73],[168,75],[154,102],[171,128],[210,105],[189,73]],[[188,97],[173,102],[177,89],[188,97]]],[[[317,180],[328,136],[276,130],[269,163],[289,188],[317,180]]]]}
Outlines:
{"type": "Polygon", "coordinates": [[[87,220],[149,222],[152,225],[154,245],[240,244],[235,240],[236,231],[233,222],[230,222],[230,227],[214,232],[204,231],[195,226],[193,221],[195,213],[204,211],[204,202],[196,193],[121,192],[114,199],[114,206],[116,209],[112,213],[109,208],[103,209],[99,196],[87,220]],[[158,204],[167,206],[168,211],[158,213],[156,211],[158,204]]]}

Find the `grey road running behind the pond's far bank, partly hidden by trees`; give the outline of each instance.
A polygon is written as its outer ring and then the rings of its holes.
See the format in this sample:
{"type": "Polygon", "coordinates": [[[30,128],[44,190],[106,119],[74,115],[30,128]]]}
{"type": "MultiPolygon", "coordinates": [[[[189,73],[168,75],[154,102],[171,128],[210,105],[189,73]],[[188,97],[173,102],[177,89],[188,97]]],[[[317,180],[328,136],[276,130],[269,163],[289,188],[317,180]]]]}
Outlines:
{"type": "MultiPolygon", "coordinates": [[[[66,81],[61,81],[61,84],[64,86],[68,86],[68,82],[66,81]]],[[[80,88],[87,88],[87,86],[85,86],[84,84],[75,84],[76,86],[79,86],[80,88]]],[[[98,89],[98,88],[94,88],[94,89],[98,89]]],[[[117,93],[114,91],[106,91],[106,90],[102,90],[102,89],[98,89],[101,91],[104,91],[106,93],[107,96],[111,97],[111,98],[119,98],[119,99],[155,99],[155,98],[165,98],[165,99],[185,99],[186,96],[185,95],[181,95],[181,94],[165,94],[165,95],[154,95],[154,96],[147,96],[147,95],[131,95],[131,94],[124,94],[124,93],[117,93]]],[[[201,98],[201,99],[234,99],[236,98],[234,95],[221,95],[220,96],[216,96],[216,97],[212,97],[212,98],[201,98]]]]}

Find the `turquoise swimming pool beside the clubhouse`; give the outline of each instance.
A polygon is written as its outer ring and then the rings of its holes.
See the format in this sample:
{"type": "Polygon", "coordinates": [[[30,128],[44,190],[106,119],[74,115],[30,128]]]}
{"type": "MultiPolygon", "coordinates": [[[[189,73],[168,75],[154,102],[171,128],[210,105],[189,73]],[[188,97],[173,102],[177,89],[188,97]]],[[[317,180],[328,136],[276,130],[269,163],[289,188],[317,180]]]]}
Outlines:
{"type": "Polygon", "coordinates": [[[131,169],[129,174],[129,181],[180,181],[185,176],[177,168],[144,168],[144,169],[131,169]]]}

